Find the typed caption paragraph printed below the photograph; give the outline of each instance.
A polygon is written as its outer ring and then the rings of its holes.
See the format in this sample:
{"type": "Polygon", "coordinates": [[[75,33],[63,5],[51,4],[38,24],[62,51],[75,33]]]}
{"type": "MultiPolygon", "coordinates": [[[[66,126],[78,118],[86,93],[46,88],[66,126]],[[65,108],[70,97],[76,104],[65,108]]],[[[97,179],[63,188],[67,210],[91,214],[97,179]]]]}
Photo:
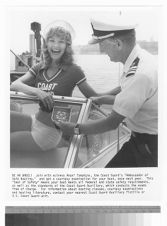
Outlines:
{"type": "Polygon", "coordinates": [[[149,174],[12,174],[12,197],[144,194],[152,181],[149,174]]]}

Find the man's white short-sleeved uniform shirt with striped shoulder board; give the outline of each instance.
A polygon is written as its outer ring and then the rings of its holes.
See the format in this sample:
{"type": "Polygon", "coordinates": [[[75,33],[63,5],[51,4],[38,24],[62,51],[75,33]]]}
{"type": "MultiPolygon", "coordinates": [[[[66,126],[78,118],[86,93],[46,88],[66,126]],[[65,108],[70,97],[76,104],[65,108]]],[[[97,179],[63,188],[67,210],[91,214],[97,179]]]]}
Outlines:
{"type": "Polygon", "coordinates": [[[156,56],[134,47],[125,62],[121,77],[122,91],[113,110],[126,117],[130,130],[158,133],[158,72],[156,56]]]}

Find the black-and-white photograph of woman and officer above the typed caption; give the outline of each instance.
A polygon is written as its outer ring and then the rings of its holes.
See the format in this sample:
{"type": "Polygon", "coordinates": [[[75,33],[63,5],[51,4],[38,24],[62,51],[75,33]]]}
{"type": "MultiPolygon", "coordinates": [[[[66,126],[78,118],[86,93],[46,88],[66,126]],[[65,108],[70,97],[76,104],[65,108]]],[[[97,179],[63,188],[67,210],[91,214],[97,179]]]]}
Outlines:
{"type": "Polygon", "coordinates": [[[160,7],[13,7],[10,167],[158,167],[160,7]]]}

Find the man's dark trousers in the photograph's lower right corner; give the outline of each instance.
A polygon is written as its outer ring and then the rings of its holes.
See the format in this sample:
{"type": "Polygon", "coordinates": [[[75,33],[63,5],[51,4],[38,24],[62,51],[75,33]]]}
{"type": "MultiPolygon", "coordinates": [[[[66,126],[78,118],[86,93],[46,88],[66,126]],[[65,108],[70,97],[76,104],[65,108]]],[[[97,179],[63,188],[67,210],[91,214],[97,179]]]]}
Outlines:
{"type": "Polygon", "coordinates": [[[157,167],[158,135],[132,133],[106,168],[157,167]]]}

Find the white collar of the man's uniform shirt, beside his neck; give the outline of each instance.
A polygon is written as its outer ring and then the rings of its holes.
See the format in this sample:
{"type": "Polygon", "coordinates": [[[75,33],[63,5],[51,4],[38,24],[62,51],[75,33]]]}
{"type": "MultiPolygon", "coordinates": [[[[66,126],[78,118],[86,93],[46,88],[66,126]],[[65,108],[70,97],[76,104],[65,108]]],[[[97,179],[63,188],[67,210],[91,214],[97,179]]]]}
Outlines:
{"type": "Polygon", "coordinates": [[[131,66],[133,61],[136,59],[136,57],[139,55],[139,51],[140,51],[140,46],[136,44],[124,64],[123,72],[125,73],[128,72],[129,67],[131,66]]]}

